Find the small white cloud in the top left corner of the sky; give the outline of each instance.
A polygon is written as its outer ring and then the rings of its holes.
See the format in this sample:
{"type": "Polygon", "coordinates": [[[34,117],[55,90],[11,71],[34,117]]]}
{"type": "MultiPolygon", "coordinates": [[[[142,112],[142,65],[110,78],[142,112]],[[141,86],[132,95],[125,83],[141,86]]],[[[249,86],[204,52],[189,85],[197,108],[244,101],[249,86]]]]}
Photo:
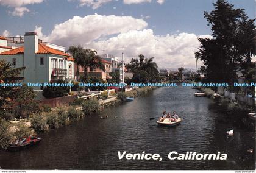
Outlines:
{"type": "Polygon", "coordinates": [[[24,13],[30,12],[25,5],[28,4],[38,4],[43,2],[43,0],[0,0],[0,5],[12,8],[8,13],[13,16],[23,16],[24,13]]]}

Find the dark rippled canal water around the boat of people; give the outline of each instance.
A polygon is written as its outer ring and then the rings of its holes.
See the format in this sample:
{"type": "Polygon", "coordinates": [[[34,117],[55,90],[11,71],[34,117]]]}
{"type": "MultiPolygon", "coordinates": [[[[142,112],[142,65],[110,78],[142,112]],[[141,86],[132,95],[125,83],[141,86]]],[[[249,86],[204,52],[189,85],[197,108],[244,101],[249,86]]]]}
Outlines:
{"type": "Polygon", "coordinates": [[[194,90],[158,88],[133,102],[105,109],[41,135],[39,146],[0,151],[2,169],[255,169],[255,137],[237,127],[210,99],[194,90]],[[163,111],[183,118],[177,127],[160,127],[163,111]],[[99,116],[107,115],[107,119],[99,116]],[[227,130],[234,130],[227,137],[227,130]],[[247,150],[253,149],[253,154],[247,150]],[[158,153],[162,161],[119,160],[118,151],[158,153]],[[171,151],[228,155],[227,160],[169,160],[171,151]]]}

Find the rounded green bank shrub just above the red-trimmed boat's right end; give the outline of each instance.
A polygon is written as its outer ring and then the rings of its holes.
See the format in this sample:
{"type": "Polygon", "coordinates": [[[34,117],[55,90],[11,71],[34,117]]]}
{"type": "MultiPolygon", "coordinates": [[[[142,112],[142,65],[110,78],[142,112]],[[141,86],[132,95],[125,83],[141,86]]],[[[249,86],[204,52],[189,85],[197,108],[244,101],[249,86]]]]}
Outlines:
{"type": "Polygon", "coordinates": [[[43,115],[34,115],[31,118],[32,127],[35,132],[44,132],[48,130],[47,119],[43,115]]]}

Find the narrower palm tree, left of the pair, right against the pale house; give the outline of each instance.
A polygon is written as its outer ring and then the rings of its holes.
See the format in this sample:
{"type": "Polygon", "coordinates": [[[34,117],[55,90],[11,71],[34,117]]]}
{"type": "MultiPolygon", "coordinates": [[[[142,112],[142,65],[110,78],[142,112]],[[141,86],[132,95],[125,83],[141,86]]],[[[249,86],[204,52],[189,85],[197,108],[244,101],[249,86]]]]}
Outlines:
{"type": "Polygon", "coordinates": [[[72,57],[74,58],[74,62],[77,65],[76,68],[76,76],[77,76],[77,80],[79,79],[79,66],[82,66],[83,64],[83,48],[82,46],[70,46],[68,49],[68,52],[72,55],[72,57]]]}

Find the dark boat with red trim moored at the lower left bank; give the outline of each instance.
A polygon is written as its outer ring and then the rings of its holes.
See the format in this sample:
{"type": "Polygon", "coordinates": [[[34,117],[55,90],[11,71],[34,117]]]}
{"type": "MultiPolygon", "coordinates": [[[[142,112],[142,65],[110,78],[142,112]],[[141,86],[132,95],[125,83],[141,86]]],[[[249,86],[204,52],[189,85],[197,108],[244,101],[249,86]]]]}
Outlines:
{"type": "Polygon", "coordinates": [[[15,151],[15,150],[26,149],[27,147],[35,146],[35,145],[39,144],[40,141],[41,141],[41,138],[29,136],[27,138],[22,138],[20,140],[13,141],[9,145],[7,150],[15,151]]]}

